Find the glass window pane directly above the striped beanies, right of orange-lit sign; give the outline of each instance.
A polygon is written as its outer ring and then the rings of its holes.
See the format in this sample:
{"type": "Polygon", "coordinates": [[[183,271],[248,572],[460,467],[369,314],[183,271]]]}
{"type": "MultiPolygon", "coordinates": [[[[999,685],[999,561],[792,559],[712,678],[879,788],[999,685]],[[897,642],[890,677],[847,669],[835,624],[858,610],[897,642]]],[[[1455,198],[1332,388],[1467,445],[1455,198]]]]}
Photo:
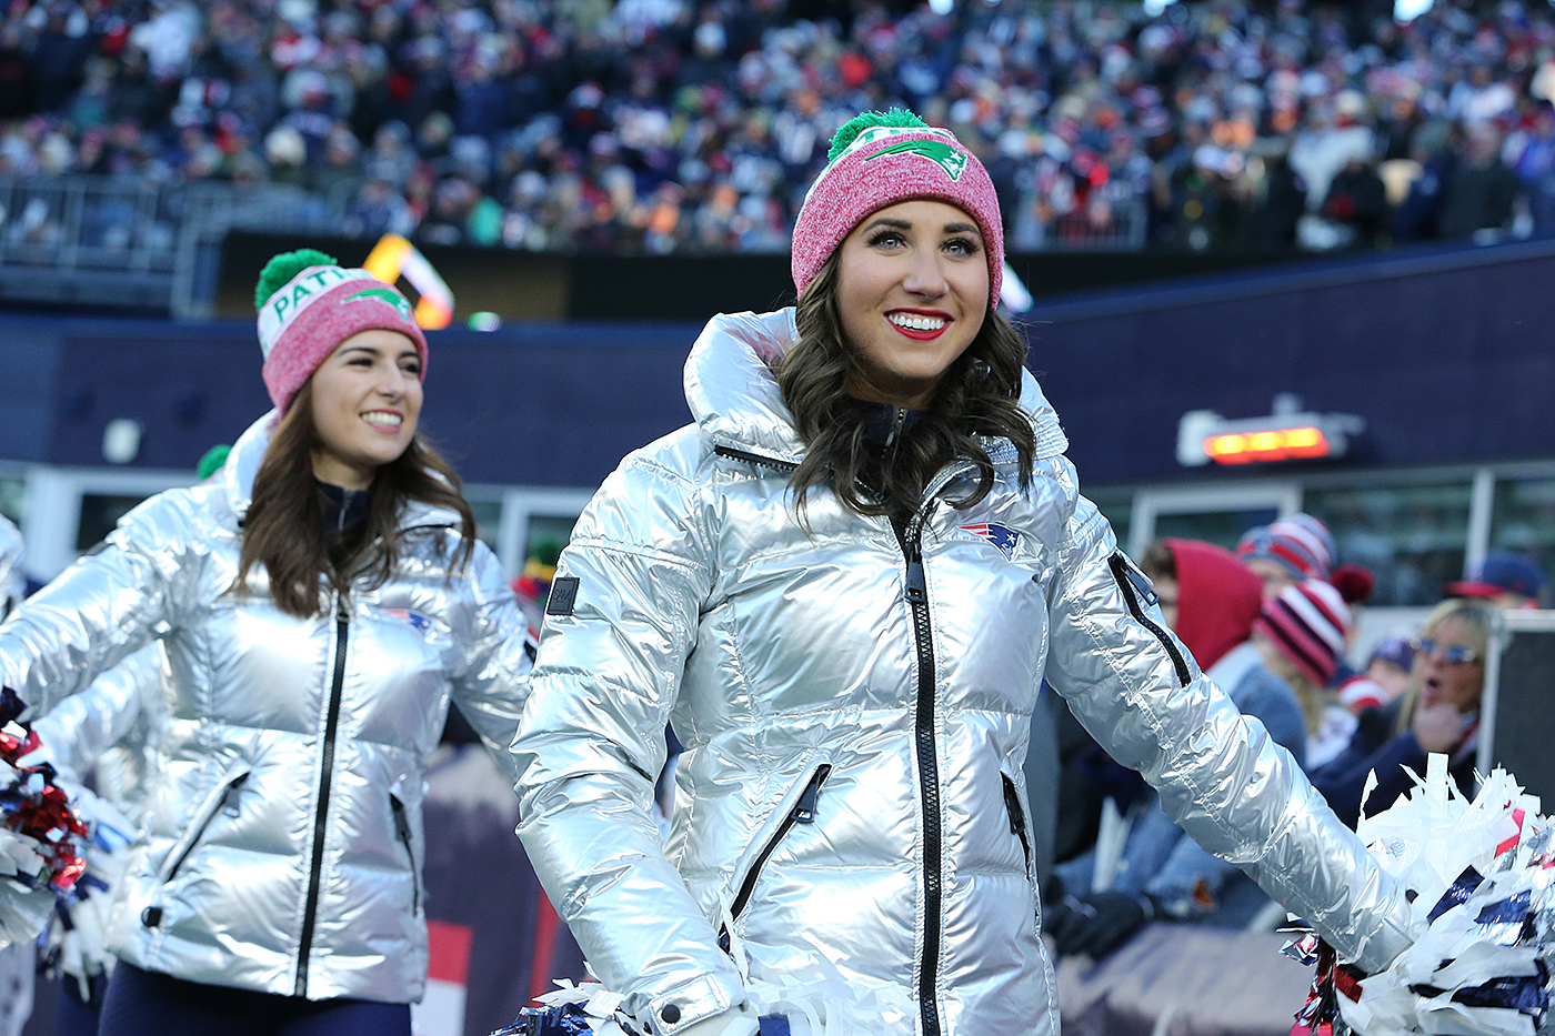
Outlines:
{"type": "Polygon", "coordinates": [[[1305,509],[1328,523],[1337,563],[1376,576],[1367,604],[1432,605],[1463,576],[1473,490],[1465,482],[1308,490],[1305,509]]]}

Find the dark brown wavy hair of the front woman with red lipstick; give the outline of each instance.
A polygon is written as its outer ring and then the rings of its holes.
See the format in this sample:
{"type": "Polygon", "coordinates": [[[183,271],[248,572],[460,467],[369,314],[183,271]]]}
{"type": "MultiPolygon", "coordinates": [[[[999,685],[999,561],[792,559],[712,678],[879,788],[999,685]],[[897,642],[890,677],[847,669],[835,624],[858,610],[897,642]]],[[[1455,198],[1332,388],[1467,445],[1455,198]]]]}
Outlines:
{"type": "Polygon", "coordinates": [[[1020,409],[1026,344],[992,306],[902,442],[891,451],[869,445],[866,420],[847,401],[847,386],[869,384],[869,373],[843,334],[838,252],[832,252],[799,296],[795,313],[799,341],[776,372],[782,400],[805,445],[804,460],[788,479],[796,507],[802,510],[815,488],[830,485],[852,512],[905,518],[917,509],[928,481],[958,459],[977,465],[978,484],[949,502],[972,507],[994,488],[994,460],[983,437],[1014,443],[1020,484],[1029,485],[1037,446],[1031,417],[1020,409]]]}

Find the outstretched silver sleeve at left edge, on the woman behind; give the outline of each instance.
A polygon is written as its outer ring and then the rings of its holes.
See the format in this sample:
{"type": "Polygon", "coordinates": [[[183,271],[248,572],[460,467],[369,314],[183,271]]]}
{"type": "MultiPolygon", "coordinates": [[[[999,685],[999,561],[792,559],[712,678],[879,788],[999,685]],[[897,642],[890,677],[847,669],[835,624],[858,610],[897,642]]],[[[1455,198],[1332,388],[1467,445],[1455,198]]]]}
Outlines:
{"type": "Polygon", "coordinates": [[[0,681],[33,716],[179,621],[204,563],[197,510],[190,490],[152,496],[0,625],[0,681]]]}

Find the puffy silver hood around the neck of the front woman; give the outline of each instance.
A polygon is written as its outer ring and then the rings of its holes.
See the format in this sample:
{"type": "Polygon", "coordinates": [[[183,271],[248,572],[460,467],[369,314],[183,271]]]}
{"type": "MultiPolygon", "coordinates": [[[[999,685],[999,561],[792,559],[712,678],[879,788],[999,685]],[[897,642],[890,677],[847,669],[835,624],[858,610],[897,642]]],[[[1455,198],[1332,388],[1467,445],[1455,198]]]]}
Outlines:
{"type": "MultiPolygon", "coordinates": [[[[804,443],[784,406],[774,369],[799,339],[795,308],[776,313],[720,313],[708,320],[686,359],[686,403],[714,443],[757,450],[788,464],[804,457],[804,443]]],[[[1037,457],[1068,450],[1037,380],[1022,370],[1020,406],[1031,417],[1037,457]]]]}

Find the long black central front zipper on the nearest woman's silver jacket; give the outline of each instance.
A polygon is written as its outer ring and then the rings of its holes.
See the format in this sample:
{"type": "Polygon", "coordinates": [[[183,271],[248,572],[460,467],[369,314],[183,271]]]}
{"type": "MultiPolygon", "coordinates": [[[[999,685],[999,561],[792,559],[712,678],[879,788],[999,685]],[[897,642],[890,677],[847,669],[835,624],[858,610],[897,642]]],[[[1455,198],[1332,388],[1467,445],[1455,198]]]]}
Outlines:
{"type": "Polygon", "coordinates": [[[924,810],[924,957],[917,969],[917,1013],[922,1036],[939,1036],[939,938],[944,890],[939,871],[944,859],[944,831],[939,823],[939,756],[935,745],[935,644],[928,622],[928,580],[924,576],[922,523],[900,537],[907,558],[907,602],[913,611],[913,641],[917,647],[917,709],[913,719],[913,745],[917,756],[917,782],[924,810]]]}

